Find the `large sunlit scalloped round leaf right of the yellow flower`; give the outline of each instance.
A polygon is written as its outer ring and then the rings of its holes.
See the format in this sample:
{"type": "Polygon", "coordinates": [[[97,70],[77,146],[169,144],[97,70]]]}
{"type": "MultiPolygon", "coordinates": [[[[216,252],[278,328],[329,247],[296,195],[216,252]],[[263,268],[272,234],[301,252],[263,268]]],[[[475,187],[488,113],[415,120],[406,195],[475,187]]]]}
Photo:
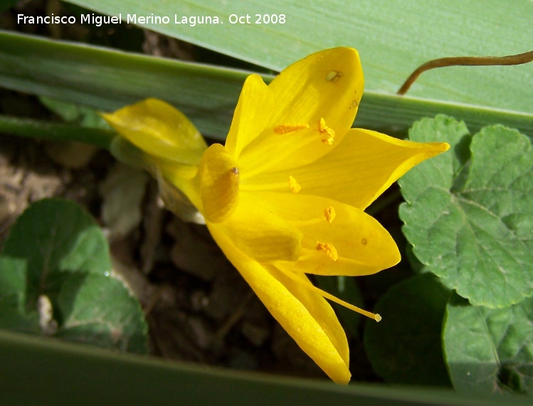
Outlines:
{"type": "Polygon", "coordinates": [[[403,232],[417,258],[474,305],[506,307],[533,293],[533,154],[516,130],[439,116],[413,125],[411,140],[450,151],[400,180],[403,232]]]}

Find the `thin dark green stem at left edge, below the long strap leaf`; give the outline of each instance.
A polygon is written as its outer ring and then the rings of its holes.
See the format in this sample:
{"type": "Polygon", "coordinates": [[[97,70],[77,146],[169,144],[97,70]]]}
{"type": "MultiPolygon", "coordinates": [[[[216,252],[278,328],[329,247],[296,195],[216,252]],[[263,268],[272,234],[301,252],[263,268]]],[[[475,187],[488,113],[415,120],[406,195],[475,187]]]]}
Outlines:
{"type": "Polygon", "coordinates": [[[79,141],[109,149],[116,133],[98,128],[0,115],[0,132],[36,140],[79,141]]]}

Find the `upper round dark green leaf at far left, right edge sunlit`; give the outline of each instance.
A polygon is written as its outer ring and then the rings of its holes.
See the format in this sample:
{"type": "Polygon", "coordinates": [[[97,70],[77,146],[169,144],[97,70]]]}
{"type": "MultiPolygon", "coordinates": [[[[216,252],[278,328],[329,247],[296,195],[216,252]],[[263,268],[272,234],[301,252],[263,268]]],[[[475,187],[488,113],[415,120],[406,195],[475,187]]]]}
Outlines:
{"type": "Polygon", "coordinates": [[[0,255],[16,261],[33,294],[46,289],[58,271],[103,275],[111,270],[100,227],[78,204],[63,199],[31,204],[11,228],[0,255]]]}

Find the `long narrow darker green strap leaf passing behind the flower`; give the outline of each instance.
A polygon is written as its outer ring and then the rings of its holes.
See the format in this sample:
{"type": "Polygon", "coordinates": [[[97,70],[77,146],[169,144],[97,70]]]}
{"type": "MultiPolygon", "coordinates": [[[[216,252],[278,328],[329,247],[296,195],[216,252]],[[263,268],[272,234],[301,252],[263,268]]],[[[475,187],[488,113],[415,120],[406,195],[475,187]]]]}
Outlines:
{"type": "MultiPolygon", "coordinates": [[[[298,57],[290,58],[287,65],[298,57]]],[[[365,71],[369,69],[365,68],[365,71]]],[[[235,69],[0,31],[0,86],[97,110],[115,110],[147,97],[156,97],[175,105],[204,135],[217,140],[226,138],[247,75],[235,69]]],[[[269,81],[272,76],[263,75],[263,78],[269,81]]],[[[533,114],[530,112],[440,103],[371,90],[364,93],[355,125],[389,133],[406,131],[413,121],[438,113],[465,120],[474,129],[488,123],[502,123],[533,136],[533,114]]],[[[14,133],[26,136],[41,135],[41,123],[35,128],[32,123],[12,125],[7,120],[4,125],[2,121],[0,117],[0,130],[16,131],[14,133]]],[[[90,137],[100,137],[100,145],[106,147],[109,144],[107,133],[91,134],[88,129],[83,130],[80,137],[85,138],[78,139],[78,132],[70,132],[71,137],[84,142],[90,137]]]]}

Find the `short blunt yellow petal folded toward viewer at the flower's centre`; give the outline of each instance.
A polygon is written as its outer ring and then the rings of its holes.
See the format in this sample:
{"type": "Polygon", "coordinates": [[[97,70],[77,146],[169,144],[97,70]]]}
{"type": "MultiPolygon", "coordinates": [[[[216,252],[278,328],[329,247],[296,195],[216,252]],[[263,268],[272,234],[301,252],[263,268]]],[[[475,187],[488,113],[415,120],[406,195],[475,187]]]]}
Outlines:
{"type": "Polygon", "coordinates": [[[300,256],[302,232],[250,194],[241,193],[235,212],[220,227],[256,261],[296,261],[300,256]]]}

